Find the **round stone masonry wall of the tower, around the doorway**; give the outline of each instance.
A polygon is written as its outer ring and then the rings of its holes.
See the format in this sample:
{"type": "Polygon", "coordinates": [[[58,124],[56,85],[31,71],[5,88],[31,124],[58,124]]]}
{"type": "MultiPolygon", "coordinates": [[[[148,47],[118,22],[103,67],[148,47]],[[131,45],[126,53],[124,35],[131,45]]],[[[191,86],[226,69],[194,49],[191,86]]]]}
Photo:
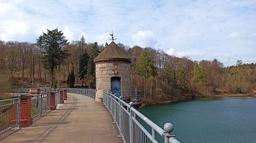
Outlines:
{"type": "Polygon", "coordinates": [[[130,64],[112,62],[96,63],[96,102],[103,102],[103,90],[111,89],[111,78],[117,76],[121,78],[121,89],[130,90],[130,64]],[[115,69],[117,74],[113,74],[115,69]]]}

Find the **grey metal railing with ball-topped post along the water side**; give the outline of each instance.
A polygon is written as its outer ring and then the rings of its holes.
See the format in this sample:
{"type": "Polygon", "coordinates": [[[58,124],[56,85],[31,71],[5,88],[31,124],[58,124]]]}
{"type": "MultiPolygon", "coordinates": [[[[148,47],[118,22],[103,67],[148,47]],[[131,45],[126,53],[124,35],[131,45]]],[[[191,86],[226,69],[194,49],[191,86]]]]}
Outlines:
{"type": "MultiPolygon", "coordinates": [[[[148,137],[149,140],[153,143],[158,143],[156,139],[156,133],[158,133],[161,137],[163,137],[165,143],[180,143],[177,139],[175,139],[175,135],[173,135],[171,132],[173,131],[173,125],[172,123],[166,123],[164,125],[164,129],[162,129],[160,126],[158,126],[156,123],[145,117],[142,113],[140,113],[137,109],[135,109],[133,106],[133,103],[130,102],[130,104],[126,103],[125,101],[122,101],[122,99],[116,97],[113,93],[103,91],[104,95],[104,105],[107,107],[107,109],[111,112],[111,115],[113,116],[114,122],[118,126],[120,136],[122,136],[124,142],[130,141],[130,143],[133,143],[133,140],[136,140],[136,137],[140,137],[141,135],[134,131],[134,126],[137,125],[139,127],[145,136],[148,137]],[[108,97],[108,98],[107,98],[108,97]],[[109,98],[110,101],[109,101],[109,98]],[[119,107],[116,107],[119,106],[119,107]],[[127,111],[124,110],[124,106],[127,107],[127,111]],[[117,109],[116,109],[117,108],[117,109]],[[120,114],[124,110],[126,114],[128,115],[128,119],[123,118],[120,114]],[[118,117],[119,115],[119,117],[118,117]],[[152,129],[152,134],[150,134],[141,124],[139,121],[137,121],[136,117],[141,118],[148,126],[152,129]],[[129,132],[124,130],[121,126],[122,123],[119,121],[126,121],[129,132]],[[132,124],[132,122],[136,123],[136,125],[132,124]],[[122,132],[122,130],[124,132],[122,132]],[[133,131],[134,132],[133,132],[133,131]],[[128,132],[128,133],[127,133],[128,132]],[[128,134],[128,135],[127,135],[128,134]],[[125,136],[125,137],[124,137],[125,136]],[[129,136],[129,137],[128,137],[129,136]],[[136,136],[135,138],[133,136],[136,136]]],[[[122,98],[122,97],[121,97],[122,98]]],[[[126,116],[125,116],[126,117],[126,116]]],[[[145,141],[143,139],[143,141],[145,141]]],[[[135,141],[136,142],[136,141],[135,141]]]]}

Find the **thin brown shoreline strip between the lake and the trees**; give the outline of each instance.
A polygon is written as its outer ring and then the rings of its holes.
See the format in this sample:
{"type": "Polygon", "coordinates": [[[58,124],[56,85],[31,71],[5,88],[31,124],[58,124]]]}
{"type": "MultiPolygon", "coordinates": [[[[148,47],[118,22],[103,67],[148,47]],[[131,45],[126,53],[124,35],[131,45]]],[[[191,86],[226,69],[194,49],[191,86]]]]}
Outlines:
{"type": "Polygon", "coordinates": [[[150,105],[161,105],[161,104],[171,104],[183,101],[192,101],[199,98],[218,98],[218,97],[255,97],[256,94],[220,94],[220,95],[209,95],[209,96],[196,96],[196,97],[186,97],[186,98],[174,98],[174,100],[167,101],[157,101],[157,102],[147,102],[147,104],[142,104],[141,106],[150,106],[150,105]]]}

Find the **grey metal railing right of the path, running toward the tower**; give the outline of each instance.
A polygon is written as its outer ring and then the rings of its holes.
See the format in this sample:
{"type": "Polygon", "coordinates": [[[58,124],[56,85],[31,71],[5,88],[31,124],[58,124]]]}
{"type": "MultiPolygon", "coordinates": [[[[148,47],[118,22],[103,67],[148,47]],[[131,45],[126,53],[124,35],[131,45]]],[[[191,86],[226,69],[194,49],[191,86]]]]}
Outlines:
{"type": "Polygon", "coordinates": [[[164,143],[180,143],[171,133],[174,129],[172,123],[166,123],[164,129],[160,128],[133,108],[133,102],[127,104],[116,95],[103,91],[103,103],[111,112],[120,132],[119,137],[122,137],[125,143],[159,143],[162,140],[164,143]],[[142,126],[139,120],[151,127],[151,133],[142,126]],[[157,134],[160,139],[157,138],[157,134]]]}

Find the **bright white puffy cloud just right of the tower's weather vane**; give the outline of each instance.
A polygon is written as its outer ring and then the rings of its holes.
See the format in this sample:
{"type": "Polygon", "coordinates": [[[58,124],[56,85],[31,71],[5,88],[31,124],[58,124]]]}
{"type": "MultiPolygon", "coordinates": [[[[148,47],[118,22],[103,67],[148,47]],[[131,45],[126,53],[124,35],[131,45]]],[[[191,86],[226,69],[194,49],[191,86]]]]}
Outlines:
{"type": "Polygon", "coordinates": [[[136,34],[131,35],[131,39],[137,44],[143,47],[151,46],[157,43],[157,38],[153,31],[138,31],[136,34]]]}

